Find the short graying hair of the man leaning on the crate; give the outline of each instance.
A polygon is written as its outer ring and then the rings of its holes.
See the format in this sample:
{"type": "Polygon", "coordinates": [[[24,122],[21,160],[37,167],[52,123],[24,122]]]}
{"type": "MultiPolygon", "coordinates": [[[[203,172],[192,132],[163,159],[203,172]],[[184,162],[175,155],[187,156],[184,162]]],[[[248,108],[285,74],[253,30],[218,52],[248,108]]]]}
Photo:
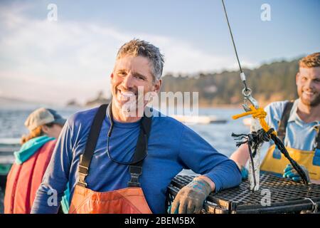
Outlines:
{"type": "Polygon", "coordinates": [[[134,38],[119,48],[117,59],[124,56],[143,56],[148,58],[150,63],[152,63],[152,75],[155,81],[161,79],[164,69],[164,55],[160,53],[159,48],[156,46],[147,41],[134,38]]]}

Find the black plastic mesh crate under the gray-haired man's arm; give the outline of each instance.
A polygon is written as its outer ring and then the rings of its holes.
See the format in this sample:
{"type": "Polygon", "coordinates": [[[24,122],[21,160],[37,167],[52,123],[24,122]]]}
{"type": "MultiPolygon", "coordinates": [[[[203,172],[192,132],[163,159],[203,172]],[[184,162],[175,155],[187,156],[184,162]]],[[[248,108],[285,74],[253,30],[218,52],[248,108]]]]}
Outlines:
{"type": "MultiPolygon", "coordinates": [[[[178,175],[171,181],[168,187],[167,206],[173,202],[178,191],[193,180],[193,177],[178,175]]],[[[251,192],[245,180],[238,187],[211,193],[203,205],[203,213],[299,213],[306,210],[313,211],[315,209],[313,202],[320,209],[320,185],[306,186],[300,182],[265,173],[260,175],[260,190],[257,192],[251,192]],[[269,195],[270,201],[266,200],[269,195]]]]}

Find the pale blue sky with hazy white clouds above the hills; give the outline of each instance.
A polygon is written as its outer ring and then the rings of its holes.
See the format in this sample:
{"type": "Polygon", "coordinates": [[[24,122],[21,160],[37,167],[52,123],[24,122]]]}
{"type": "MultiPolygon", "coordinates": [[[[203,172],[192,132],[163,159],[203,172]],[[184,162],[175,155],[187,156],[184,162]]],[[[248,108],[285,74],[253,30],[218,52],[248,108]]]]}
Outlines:
{"type": "MultiPolygon", "coordinates": [[[[225,6],[243,67],[320,51],[319,0],[225,6]]],[[[220,0],[0,1],[0,97],[63,105],[110,94],[117,50],[132,38],[161,49],[164,74],[237,70],[220,0]]]]}

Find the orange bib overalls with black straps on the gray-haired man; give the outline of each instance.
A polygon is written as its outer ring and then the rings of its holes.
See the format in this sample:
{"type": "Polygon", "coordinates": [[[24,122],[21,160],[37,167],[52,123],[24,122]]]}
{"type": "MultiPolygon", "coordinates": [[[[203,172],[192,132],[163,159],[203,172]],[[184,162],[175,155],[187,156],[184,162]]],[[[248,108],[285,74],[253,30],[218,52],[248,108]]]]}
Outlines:
{"type": "MultiPolygon", "coordinates": [[[[146,202],[144,193],[139,184],[139,175],[142,174],[142,162],[146,157],[147,138],[151,128],[151,118],[143,117],[141,122],[141,130],[137,147],[134,153],[134,162],[127,162],[123,165],[129,165],[131,180],[128,182],[128,187],[120,190],[109,192],[95,192],[87,188],[85,177],[88,175],[90,161],[97,144],[97,138],[100,135],[102,121],[105,118],[106,110],[108,109],[110,117],[110,131],[112,132],[112,113],[111,105],[101,105],[95,120],[93,120],[90,129],[89,138],[85,147],[85,152],[80,159],[78,169],[79,180],[75,186],[73,199],[70,204],[70,214],[150,214],[151,209],[146,202]]],[[[108,143],[109,145],[109,143],[108,143]]],[[[107,148],[109,150],[109,148],[107,148]]],[[[110,157],[112,159],[112,157],[110,157]]],[[[112,159],[113,160],[113,159],[112,159]]],[[[119,162],[122,164],[121,162],[119,162]]]]}

